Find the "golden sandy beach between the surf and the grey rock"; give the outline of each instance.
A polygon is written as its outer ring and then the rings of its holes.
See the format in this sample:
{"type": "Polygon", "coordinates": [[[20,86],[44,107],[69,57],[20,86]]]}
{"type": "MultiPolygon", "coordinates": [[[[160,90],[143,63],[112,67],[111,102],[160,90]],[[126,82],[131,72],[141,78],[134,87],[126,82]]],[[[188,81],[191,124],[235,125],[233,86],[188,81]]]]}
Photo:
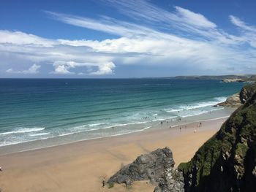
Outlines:
{"type": "Polygon", "coordinates": [[[0,155],[1,191],[154,191],[154,185],[136,182],[132,188],[115,185],[102,188],[121,166],[142,153],[170,147],[176,166],[189,161],[195,151],[213,136],[227,118],[187,124],[187,128],[165,123],[159,128],[134,134],[91,139],[67,145],[0,155]],[[196,133],[194,133],[197,128],[196,133]]]}

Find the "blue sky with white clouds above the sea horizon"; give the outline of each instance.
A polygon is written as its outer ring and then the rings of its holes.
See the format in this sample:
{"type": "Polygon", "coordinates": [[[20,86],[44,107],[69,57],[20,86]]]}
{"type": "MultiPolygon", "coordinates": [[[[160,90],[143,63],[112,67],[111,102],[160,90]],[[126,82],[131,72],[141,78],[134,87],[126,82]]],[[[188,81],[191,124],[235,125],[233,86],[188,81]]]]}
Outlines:
{"type": "Polygon", "coordinates": [[[256,73],[255,0],[1,0],[0,78],[256,73]]]}

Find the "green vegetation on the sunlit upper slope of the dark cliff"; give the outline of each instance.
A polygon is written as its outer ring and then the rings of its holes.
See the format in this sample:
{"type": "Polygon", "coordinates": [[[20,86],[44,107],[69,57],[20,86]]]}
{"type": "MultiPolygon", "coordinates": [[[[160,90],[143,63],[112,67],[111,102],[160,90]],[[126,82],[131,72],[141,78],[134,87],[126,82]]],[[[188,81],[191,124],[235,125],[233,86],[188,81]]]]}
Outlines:
{"type": "MultiPolygon", "coordinates": [[[[231,153],[234,153],[233,156],[238,157],[236,163],[243,166],[244,156],[249,149],[246,142],[252,137],[256,140],[255,99],[256,93],[230,116],[214,137],[197,150],[191,161],[178,166],[184,174],[196,172],[195,185],[198,185],[203,177],[211,174],[214,165],[222,156],[226,155],[226,158],[230,158],[231,153]]],[[[243,172],[244,170],[241,169],[239,174],[243,172]]]]}

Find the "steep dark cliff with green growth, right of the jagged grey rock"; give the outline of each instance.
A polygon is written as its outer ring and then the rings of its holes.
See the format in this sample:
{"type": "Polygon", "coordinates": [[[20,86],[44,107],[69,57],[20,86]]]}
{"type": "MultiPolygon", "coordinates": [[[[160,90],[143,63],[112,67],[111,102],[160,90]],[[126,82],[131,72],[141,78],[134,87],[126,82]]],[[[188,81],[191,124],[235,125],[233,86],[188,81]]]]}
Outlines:
{"type": "Polygon", "coordinates": [[[256,93],[178,170],[188,192],[255,191],[256,93]]]}

